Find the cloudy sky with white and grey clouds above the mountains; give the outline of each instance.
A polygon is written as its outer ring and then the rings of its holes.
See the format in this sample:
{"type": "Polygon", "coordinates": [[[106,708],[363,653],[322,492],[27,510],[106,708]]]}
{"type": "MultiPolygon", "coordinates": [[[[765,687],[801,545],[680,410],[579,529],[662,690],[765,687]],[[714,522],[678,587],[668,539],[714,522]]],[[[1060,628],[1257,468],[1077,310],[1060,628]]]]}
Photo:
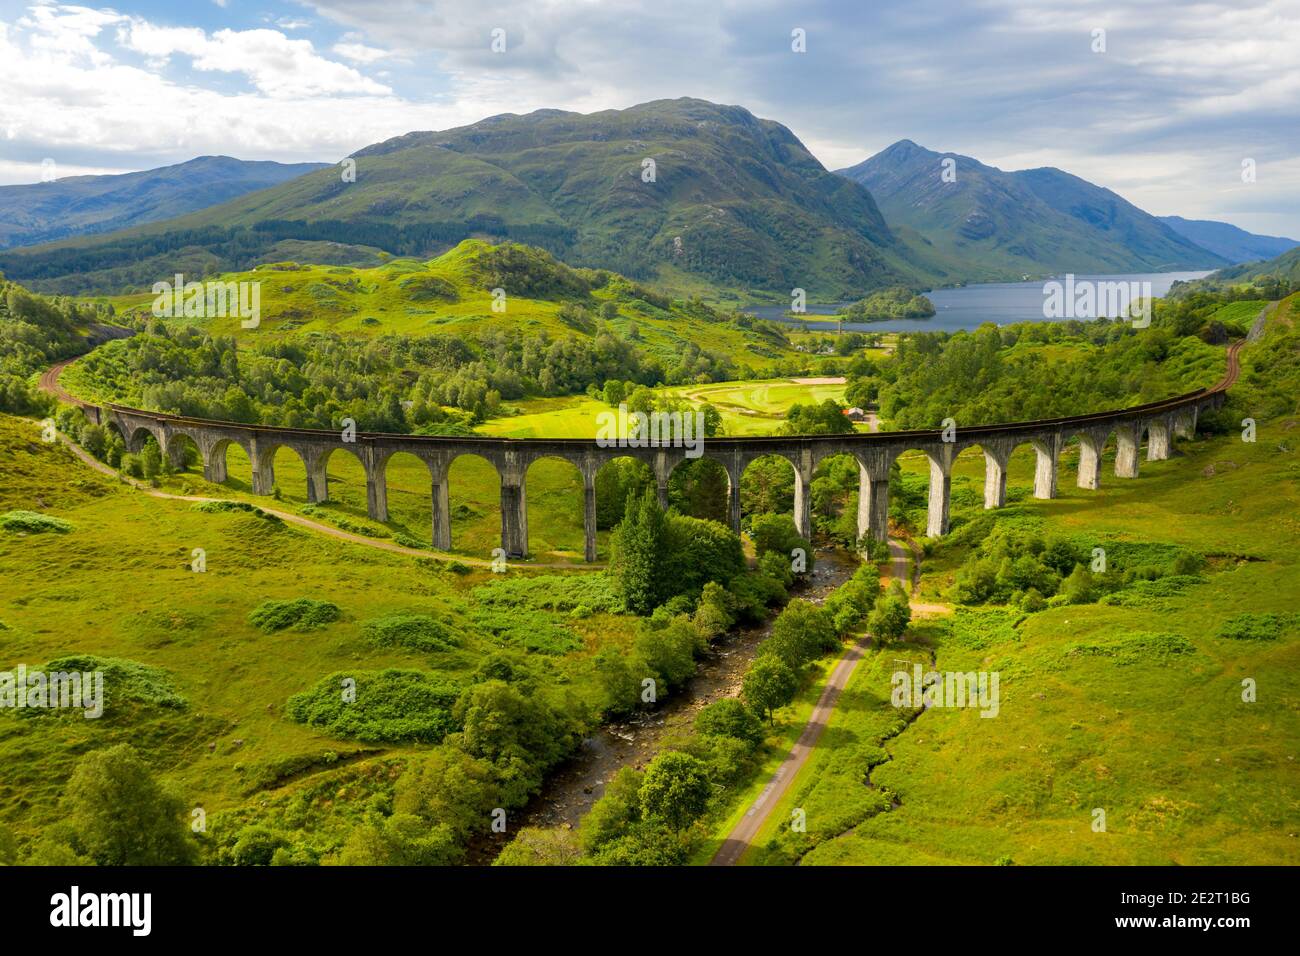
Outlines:
{"type": "Polygon", "coordinates": [[[699,96],[1300,238],[1300,0],[0,0],[0,183],[699,96]]]}

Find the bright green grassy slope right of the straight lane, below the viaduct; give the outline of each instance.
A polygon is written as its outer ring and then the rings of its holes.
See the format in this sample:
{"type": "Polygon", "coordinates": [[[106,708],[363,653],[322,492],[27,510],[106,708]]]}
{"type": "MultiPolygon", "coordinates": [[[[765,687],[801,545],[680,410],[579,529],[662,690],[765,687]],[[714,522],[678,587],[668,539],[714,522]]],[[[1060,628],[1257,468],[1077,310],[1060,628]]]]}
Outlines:
{"type": "MultiPolygon", "coordinates": [[[[1188,548],[1209,557],[1200,583],[1124,606],[936,618],[874,649],[746,862],[1300,862],[1295,425],[1273,421],[1254,444],[1179,442],[1136,480],[1109,471],[1098,492],[1075,488],[1067,460],[1049,502],[1028,497],[1031,458],[1013,467],[1000,520],[1188,548]],[[1292,623],[1274,640],[1221,635],[1231,618],[1266,613],[1292,623]],[[998,715],[933,708],[909,724],[890,674],[931,659],[998,672],[998,715]],[[806,834],[790,829],[796,809],[806,834]]],[[[982,484],[982,462],[963,459],[954,532],[979,514],[982,484]]],[[[965,553],[933,548],[922,600],[946,596],[965,553]]]]}

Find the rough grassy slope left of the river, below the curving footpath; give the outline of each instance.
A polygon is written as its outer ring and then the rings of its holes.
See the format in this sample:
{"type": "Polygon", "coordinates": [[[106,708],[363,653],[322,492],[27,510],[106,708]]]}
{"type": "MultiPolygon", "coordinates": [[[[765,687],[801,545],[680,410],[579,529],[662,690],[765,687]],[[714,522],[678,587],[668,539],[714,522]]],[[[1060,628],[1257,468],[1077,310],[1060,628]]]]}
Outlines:
{"type": "MultiPolygon", "coordinates": [[[[588,657],[630,640],[633,622],[623,615],[491,609],[471,596],[514,572],[456,572],[248,512],[148,497],[43,442],[31,420],[0,416],[0,514],[39,511],[72,524],[68,533],[0,529],[0,670],[95,654],[157,669],[183,698],[178,708],[109,706],[100,719],[0,713],[0,823],[20,848],[57,822],[77,757],[116,743],[130,743],[186,805],[203,808],[211,835],[222,831],[224,813],[234,821],[256,810],[289,830],[326,832],[321,842],[337,847],[373,810],[376,790],[391,790],[404,757],[429,748],[364,744],[295,723],[285,713],[291,695],[351,670],[464,679],[490,653],[526,654],[525,643],[567,633],[577,650],[530,656],[581,697],[594,693],[582,676],[588,657]],[[203,574],[191,570],[196,548],[203,574]],[[263,601],[296,598],[333,602],[342,617],[269,633],[250,620],[263,601]],[[417,652],[365,637],[367,622],[394,614],[430,615],[460,644],[417,652]]],[[[338,492],[351,493],[346,470],[338,492]]]]}

